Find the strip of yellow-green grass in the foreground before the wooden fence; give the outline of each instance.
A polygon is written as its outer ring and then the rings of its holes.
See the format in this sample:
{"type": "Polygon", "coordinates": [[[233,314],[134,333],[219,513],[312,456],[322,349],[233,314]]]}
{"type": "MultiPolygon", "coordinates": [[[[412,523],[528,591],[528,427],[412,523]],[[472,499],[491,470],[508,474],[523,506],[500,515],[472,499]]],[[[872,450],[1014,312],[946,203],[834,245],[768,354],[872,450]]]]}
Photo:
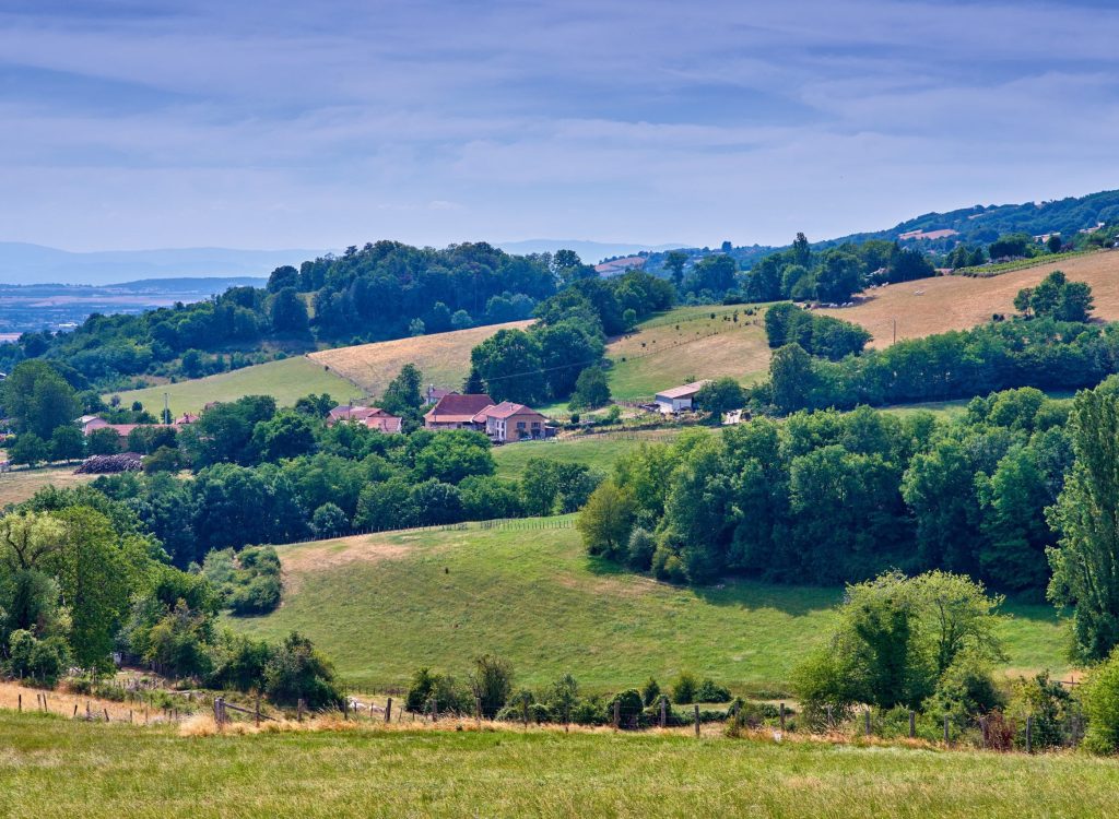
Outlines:
{"type": "Polygon", "coordinates": [[[182,737],[0,714],[6,817],[1097,817],[1119,765],[681,735],[182,737]]]}

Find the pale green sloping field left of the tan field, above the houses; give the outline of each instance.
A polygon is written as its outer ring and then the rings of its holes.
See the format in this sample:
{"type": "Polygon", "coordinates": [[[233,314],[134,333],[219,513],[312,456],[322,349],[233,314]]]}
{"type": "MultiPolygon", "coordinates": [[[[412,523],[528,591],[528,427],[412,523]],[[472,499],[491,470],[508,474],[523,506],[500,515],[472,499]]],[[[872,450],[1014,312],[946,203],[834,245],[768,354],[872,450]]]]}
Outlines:
{"type": "Polygon", "coordinates": [[[116,395],[121,396],[124,406],[139,401],[158,415],[163,408],[163,393],[176,416],[185,412],[197,413],[211,401],[236,401],[244,395],[271,395],[281,406],[294,404],[297,398],[309,393],[327,393],[339,403],[361,396],[359,387],[303,356],[116,395]]]}

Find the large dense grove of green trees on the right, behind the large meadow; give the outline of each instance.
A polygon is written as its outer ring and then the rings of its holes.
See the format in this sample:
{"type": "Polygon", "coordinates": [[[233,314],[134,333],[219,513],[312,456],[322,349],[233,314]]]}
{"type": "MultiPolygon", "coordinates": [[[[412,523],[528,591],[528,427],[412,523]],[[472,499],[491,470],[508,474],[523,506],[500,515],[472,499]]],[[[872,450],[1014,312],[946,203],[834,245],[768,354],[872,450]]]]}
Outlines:
{"type": "Polygon", "coordinates": [[[579,526],[591,554],[674,582],[941,568],[1041,597],[1056,543],[1045,508],[1073,460],[1068,413],[1026,388],[953,421],[862,407],[692,431],[620,459],[579,526]]]}

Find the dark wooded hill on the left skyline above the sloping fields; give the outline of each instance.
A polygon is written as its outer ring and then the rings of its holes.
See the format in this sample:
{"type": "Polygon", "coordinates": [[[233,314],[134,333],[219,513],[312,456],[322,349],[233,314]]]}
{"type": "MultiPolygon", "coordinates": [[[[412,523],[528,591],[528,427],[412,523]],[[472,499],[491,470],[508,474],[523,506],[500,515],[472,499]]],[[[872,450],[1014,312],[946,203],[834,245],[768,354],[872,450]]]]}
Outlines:
{"type": "Polygon", "coordinates": [[[511,256],[486,243],[417,248],[398,242],[279,267],[267,286],[231,288],[139,316],[94,314],[72,332],[25,333],[0,369],[45,357],[104,389],[139,375],[189,378],[302,351],[527,319],[558,286],[593,274],[571,252],[511,256]]]}

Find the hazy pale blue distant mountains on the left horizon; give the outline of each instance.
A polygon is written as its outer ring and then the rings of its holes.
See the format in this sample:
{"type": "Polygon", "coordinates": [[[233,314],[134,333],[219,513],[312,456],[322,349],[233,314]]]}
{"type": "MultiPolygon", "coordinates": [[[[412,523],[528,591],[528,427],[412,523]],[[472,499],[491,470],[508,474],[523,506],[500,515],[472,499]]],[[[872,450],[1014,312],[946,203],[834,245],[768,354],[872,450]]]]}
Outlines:
{"type": "Polygon", "coordinates": [[[135,283],[151,279],[266,277],[276,267],[297,267],[323,251],[238,251],[184,247],[157,251],[72,253],[22,242],[0,242],[0,283],[135,283]]]}

